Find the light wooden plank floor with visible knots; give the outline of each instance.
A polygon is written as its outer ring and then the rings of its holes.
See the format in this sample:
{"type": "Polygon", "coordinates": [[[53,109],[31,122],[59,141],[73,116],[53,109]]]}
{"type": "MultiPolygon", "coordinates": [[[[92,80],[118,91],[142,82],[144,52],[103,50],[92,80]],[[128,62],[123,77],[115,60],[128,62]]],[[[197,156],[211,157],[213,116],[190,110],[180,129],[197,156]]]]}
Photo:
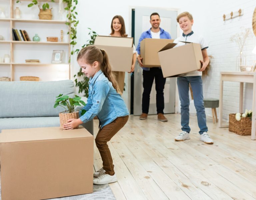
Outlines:
{"type": "MultiPolygon", "coordinates": [[[[190,140],[175,142],[180,114],[147,120],[131,115],[108,143],[118,182],[109,184],[116,199],[256,199],[256,140],[218,128],[207,118],[214,144],[199,141],[196,117],[190,140]]],[[[98,121],[94,120],[94,136],[98,121]]],[[[102,161],[94,145],[94,168],[102,161]]]]}

